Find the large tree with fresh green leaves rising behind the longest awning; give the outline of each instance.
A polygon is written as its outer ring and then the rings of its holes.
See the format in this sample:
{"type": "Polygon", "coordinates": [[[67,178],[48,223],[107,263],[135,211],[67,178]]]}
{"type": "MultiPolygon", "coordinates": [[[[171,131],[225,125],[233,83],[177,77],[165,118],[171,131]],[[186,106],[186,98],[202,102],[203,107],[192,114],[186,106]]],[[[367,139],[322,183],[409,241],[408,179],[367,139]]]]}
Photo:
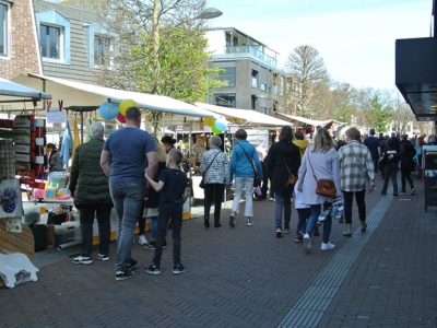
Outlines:
{"type": "MultiPolygon", "coordinates": [[[[187,103],[204,101],[211,89],[226,84],[206,80],[223,70],[206,68],[211,54],[205,52],[204,21],[199,19],[203,0],[107,0],[94,4],[102,25],[116,35],[110,54],[115,66],[102,68],[96,74],[98,84],[187,103]]],[[[162,113],[149,115],[160,137],[162,113]]]]}

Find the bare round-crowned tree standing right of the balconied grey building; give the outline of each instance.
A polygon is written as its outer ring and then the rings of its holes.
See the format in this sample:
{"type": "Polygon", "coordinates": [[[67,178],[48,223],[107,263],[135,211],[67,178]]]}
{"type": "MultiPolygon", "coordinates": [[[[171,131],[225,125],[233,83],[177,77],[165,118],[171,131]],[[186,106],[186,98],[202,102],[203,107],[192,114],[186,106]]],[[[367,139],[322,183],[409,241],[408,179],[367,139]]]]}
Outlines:
{"type": "Polygon", "coordinates": [[[327,77],[327,69],[319,51],[311,46],[302,45],[296,47],[288,58],[284,67],[293,82],[298,83],[299,93],[290,91],[287,97],[297,106],[296,114],[305,117],[314,117],[315,99],[320,96],[320,91],[326,91],[323,84],[320,84],[327,77]]]}

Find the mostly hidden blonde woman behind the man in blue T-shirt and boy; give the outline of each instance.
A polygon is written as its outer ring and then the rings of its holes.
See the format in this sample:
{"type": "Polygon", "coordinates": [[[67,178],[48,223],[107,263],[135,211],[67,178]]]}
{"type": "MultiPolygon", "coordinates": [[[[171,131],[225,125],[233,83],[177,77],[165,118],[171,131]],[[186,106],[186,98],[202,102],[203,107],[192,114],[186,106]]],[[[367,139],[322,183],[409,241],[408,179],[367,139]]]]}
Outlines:
{"type": "MultiPolygon", "coordinates": [[[[166,168],[165,161],[167,160],[167,153],[164,147],[161,144],[160,140],[156,137],[153,137],[155,141],[156,155],[157,155],[157,174],[155,180],[160,177],[160,174],[166,168]]],[[[157,231],[157,208],[160,207],[160,194],[155,191],[153,188],[149,188],[149,198],[144,202],[144,214],[138,222],[139,227],[139,243],[143,245],[145,249],[155,249],[156,242],[156,231],[157,231]],[[144,236],[144,227],[145,220],[151,219],[151,241],[147,243],[147,239],[144,236]]],[[[164,247],[167,246],[166,241],[164,239],[164,247]]]]}

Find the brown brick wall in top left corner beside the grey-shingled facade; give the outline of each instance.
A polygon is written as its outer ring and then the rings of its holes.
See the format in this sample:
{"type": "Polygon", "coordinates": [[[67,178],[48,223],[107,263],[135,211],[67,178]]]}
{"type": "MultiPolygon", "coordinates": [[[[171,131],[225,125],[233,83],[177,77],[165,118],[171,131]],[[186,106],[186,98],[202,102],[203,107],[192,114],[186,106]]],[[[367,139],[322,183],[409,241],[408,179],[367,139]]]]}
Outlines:
{"type": "Polygon", "coordinates": [[[32,17],[32,0],[15,0],[11,4],[10,58],[0,57],[0,77],[12,80],[21,74],[42,73],[38,67],[38,51],[35,43],[36,27],[32,17]]]}

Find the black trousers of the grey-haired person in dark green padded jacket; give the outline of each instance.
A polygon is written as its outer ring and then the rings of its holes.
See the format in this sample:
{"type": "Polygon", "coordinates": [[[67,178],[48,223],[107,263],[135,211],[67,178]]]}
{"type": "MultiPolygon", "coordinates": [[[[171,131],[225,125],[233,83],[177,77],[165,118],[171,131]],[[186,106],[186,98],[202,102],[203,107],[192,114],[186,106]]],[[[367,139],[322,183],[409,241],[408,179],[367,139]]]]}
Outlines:
{"type": "Polygon", "coordinates": [[[98,223],[98,254],[109,255],[111,209],[109,203],[81,204],[79,209],[82,236],[81,256],[91,257],[94,218],[97,218],[98,223]]]}

